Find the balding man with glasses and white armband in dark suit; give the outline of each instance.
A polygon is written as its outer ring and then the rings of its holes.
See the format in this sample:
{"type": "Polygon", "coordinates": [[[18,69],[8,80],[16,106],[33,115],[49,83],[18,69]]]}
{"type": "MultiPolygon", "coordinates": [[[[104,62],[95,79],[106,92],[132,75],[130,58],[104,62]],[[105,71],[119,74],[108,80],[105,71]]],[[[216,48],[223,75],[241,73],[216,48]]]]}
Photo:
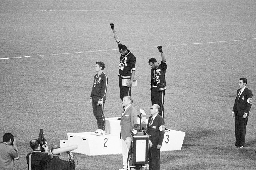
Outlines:
{"type": "Polygon", "coordinates": [[[160,169],[160,149],[164,140],[164,118],[158,114],[160,106],[153,104],[150,108],[151,116],[148,118],[147,134],[150,135],[149,140],[152,142],[152,147],[148,151],[149,170],[160,169]]]}

